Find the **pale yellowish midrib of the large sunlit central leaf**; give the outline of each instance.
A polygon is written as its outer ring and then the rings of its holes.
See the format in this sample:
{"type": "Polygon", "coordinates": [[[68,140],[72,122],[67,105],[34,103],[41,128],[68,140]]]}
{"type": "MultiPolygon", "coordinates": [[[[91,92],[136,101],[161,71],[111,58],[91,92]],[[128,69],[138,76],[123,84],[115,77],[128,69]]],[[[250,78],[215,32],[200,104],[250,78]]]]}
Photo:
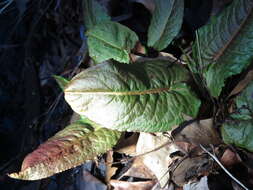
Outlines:
{"type": "Polygon", "coordinates": [[[143,91],[128,91],[128,92],[112,92],[112,91],[73,91],[65,90],[66,94],[85,94],[85,95],[115,95],[115,96],[125,96],[125,95],[146,95],[146,94],[158,94],[161,92],[169,91],[170,88],[156,88],[143,91]]]}

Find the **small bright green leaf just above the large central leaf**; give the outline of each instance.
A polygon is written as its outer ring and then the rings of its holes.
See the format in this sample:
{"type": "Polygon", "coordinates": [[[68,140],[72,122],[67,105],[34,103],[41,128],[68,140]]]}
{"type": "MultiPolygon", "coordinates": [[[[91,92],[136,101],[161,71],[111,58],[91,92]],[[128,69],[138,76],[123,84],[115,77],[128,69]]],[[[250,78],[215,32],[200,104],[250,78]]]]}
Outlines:
{"type": "Polygon", "coordinates": [[[129,63],[129,53],[138,41],[133,31],[116,22],[103,22],[86,34],[90,56],[98,63],[108,59],[129,63]]]}

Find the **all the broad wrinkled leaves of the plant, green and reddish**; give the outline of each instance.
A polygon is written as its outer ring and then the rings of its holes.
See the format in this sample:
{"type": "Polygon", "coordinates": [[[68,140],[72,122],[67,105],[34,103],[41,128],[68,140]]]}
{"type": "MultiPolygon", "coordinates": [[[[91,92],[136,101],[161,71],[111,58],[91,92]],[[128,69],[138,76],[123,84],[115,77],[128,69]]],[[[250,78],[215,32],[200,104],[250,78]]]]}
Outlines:
{"type": "MultiPolygon", "coordinates": [[[[180,31],[184,1],[154,2],[144,46],[162,50],[180,31]]],[[[189,86],[192,74],[204,79],[196,81],[196,86],[204,84],[219,98],[226,79],[253,61],[252,0],[234,0],[203,26],[193,46],[194,61],[186,66],[158,58],[122,64],[130,62],[138,36],[110,21],[98,2],[84,0],[83,8],[89,56],[104,63],[84,70],[71,81],[55,76],[66,101],[82,120],[29,154],[21,171],[10,175],[13,178],[36,180],[80,165],[112,148],[120,137],[118,131],[164,132],[187,116],[195,119],[201,101],[193,91],[199,89],[189,86]]],[[[236,112],[221,128],[225,143],[249,151],[253,151],[252,98],[253,82],[236,98],[236,112]]]]}

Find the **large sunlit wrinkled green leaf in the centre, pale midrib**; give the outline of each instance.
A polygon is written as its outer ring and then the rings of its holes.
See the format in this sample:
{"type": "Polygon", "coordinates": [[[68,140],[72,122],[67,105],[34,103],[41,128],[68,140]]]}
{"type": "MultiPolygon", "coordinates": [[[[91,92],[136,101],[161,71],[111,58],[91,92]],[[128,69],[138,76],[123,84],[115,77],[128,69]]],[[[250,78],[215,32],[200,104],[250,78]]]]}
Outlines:
{"type": "Polygon", "coordinates": [[[186,84],[188,71],[168,61],[103,63],[75,76],[65,89],[72,109],[119,131],[168,131],[195,117],[200,101],[186,84]]]}

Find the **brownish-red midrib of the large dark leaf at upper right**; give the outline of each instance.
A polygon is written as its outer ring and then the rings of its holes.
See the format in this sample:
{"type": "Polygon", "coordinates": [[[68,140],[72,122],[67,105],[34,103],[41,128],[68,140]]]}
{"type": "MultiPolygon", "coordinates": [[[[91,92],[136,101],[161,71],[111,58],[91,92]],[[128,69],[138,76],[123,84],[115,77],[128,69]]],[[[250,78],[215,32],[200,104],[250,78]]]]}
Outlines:
{"type": "Polygon", "coordinates": [[[253,13],[252,10],[253,10],[253,4],[251,5],[251,9],[250,9],[248,15],[246,16],[246,18],[244,19],[244,21],[241,23],[239,29],[235,31],[235,33],[232,35],[231,39],[225,44],[225,46],[220,51],[218,51],[217,55],[214,56],[214,58],[213,58],[214,61],[217,61],[224,54],[224,52],[227,50],[227,48],[229,48],[229,46],[232,44],[232,42],[239,36],[241,30],[244,28],[249,17],[252,15],[252,13],[253,13]]]}

